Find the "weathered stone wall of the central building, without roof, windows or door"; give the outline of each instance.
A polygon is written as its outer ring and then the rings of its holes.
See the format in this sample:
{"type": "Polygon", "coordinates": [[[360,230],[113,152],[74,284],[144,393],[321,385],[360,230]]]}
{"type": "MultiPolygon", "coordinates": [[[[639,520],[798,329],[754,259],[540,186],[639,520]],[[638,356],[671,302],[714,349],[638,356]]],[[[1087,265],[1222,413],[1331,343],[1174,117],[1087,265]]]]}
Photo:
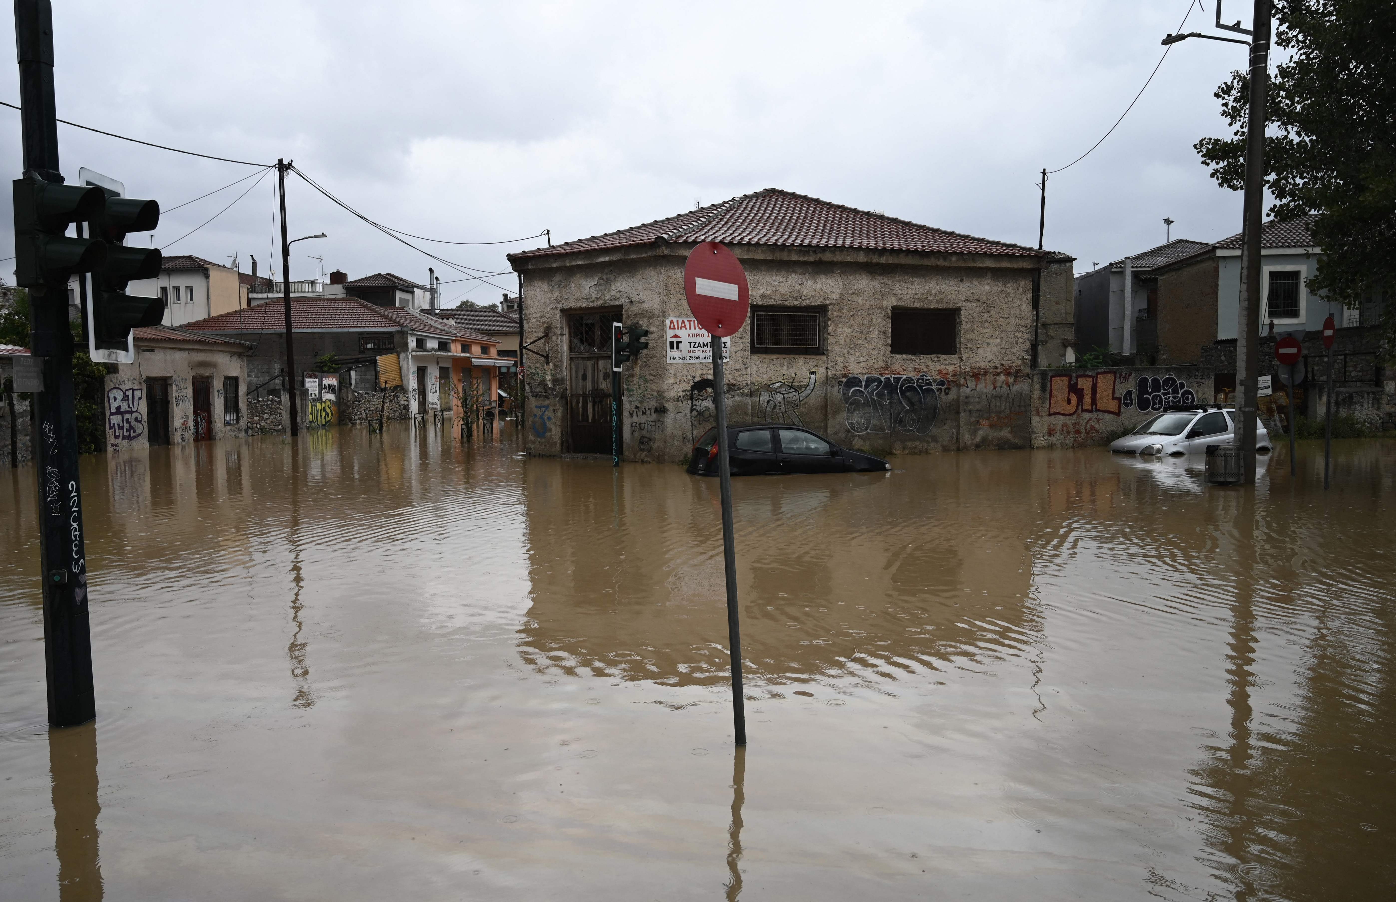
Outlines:
{"type": "MultiPolygon", "coordinates": [[[[549,355],[547,362],[529,357],[525,437],[532,454],[571,450],[570,313],[616,309],[620,321],[651,330],[651,349],[624,373],[625,459],[681,461],[712,426],[712,364],[669,363],[664,345],[667,317],[690,316],[688,250],[525,271],[525,342],[540,339],[533,349],[549,355]]],[[[730,422],[803,423],[875,454],[1030,443],[1034,260],[896,265],[818,261],[789,249],[733,250],[754,306],[826,306],[828,320],[824,355],[752,353],[748,320],[732,338],[730,422]],[[892,355],[893,307],[958,309],[959,353],[892,355]]]]}

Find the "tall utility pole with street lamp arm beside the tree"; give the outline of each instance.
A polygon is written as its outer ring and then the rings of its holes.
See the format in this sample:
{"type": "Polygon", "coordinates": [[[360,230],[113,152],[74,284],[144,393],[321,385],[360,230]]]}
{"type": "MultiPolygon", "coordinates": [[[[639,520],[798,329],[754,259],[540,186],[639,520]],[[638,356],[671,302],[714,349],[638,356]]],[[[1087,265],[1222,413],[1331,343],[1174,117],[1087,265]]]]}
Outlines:
{"type": "Polygon", "coordinates": [[[1234,443],[1241,450],[1241,482],[1242,485],[1255,485],[1256,378],[1259,376],[1261,353],[1259,330],[1256,327],[1261,317],[1261,223],[1263,221],[1262,207],[1265,204],[1265,94],[1270,80],[1270,0],[1255,0],[1251,31],[1241,28],[1241,22],[1223,25],[1222,0],[1217,0],[1216,27],[1223,31],[1251,35],[1251,40],[1189,32],[1187,35],[1167,35],[1161,43],[1170,45],[1187,40],[1188,38],[1205,38],[1208,40],[1244,43],[1251,47],[1251,96],[1245,131],[1245,200],[1241,202],[1241,260],[1244,278],[1241,279],[1241,296],[1237,304],[1237,417],[1234,443]]]}

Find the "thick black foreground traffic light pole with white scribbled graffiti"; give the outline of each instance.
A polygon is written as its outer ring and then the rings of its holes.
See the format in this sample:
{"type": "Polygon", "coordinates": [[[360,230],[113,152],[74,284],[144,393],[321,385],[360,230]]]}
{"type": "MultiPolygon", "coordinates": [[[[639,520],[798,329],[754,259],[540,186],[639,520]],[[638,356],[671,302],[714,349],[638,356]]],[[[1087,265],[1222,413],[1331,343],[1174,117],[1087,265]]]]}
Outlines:
{"type": "MultiPolygon", "coordinates": [[[[53,98],[53,8],[15,0],[25,177],[61,183],[53,98]]],[[[39,559],[43,578],[43,658],[49,723],[75,726],[96,716],[88,623],[82,493],[78,482],[73,397],[73,332],[67,279],[29,285],[31,352],[43,360],[35,392],[34,464],[39,487],[39,559]]]]}

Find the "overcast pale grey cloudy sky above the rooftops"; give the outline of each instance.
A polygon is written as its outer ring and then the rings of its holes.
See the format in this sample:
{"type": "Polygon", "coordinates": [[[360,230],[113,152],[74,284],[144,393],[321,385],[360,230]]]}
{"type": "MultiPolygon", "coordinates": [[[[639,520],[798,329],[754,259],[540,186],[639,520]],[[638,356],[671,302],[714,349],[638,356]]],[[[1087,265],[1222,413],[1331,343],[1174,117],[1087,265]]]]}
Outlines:
{"type": "MultiPolygon", "coordinates": [[[[1213,18],[1205,3],[1184,31],[1213,18]]],[[[295,159],[363,214],[420,236],[551,229],[564,242],[780,187],[1033,246],[1039,170],[1110,128],[1188,11],[1188,0],[53,6],[61,119],[295,159]]],[[[1212,92],[1244,61],[1238,45],[1175,45],[1114,134],[1051,176],[1047,247],[1083,271],[1161,243],[1164,216],[1174,237],[1238,232],[1240,194],[1216,187],[1192,144],[1224,134],[1212,92]]],[[[17,68],[6,73],[0,99],[17,102],[17,68]]],[[[0,121],[18,176],[20,114],[0,108],[0,121]]],[[[70,182],[87,166],[166,211],[258,172],[67,126],[59,140],[70,182]]],[[[260,272],[269,261],[279,274],[274,197],[275,173],[253,175],[163,215],[155,244],[225,264],[237,254],[244,272],[255,256],[260,272]]],[[[292,237],[329,236],[292,249],[292,278],[315,275],[309,254],[350,278],[424,282],[429,265],[463,278],[295,176],[288,211],[292,237]]],[[[493,272],[543,240],[415,243],[493,272]]],[[[11,247],[0,233],[0,256],[11,247]]],[[[515,286],[511,274],[489,281],[448,283],[443,300],[486,303],[515,286]]]]}

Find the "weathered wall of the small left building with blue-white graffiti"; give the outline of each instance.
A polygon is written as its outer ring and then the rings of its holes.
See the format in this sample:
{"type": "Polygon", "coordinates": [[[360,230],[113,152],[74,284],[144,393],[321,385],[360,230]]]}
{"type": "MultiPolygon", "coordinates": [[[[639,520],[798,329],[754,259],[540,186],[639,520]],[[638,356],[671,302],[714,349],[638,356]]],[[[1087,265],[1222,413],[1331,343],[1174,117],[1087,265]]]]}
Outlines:
{"type": "Polygon", "coordinates": [[[247,434],[247,363],[242,353],[191,346],[137,346],[133,363],[117,364],[106,377],[107,450],[149,447],[145,398],[147,378],[170,381],[170,444],[194,440],[194,377],[209,377],[209,429],[212,438],[247,434]],[[223,377],[237,377],[240,422],[223,423],[223,377]]]}

